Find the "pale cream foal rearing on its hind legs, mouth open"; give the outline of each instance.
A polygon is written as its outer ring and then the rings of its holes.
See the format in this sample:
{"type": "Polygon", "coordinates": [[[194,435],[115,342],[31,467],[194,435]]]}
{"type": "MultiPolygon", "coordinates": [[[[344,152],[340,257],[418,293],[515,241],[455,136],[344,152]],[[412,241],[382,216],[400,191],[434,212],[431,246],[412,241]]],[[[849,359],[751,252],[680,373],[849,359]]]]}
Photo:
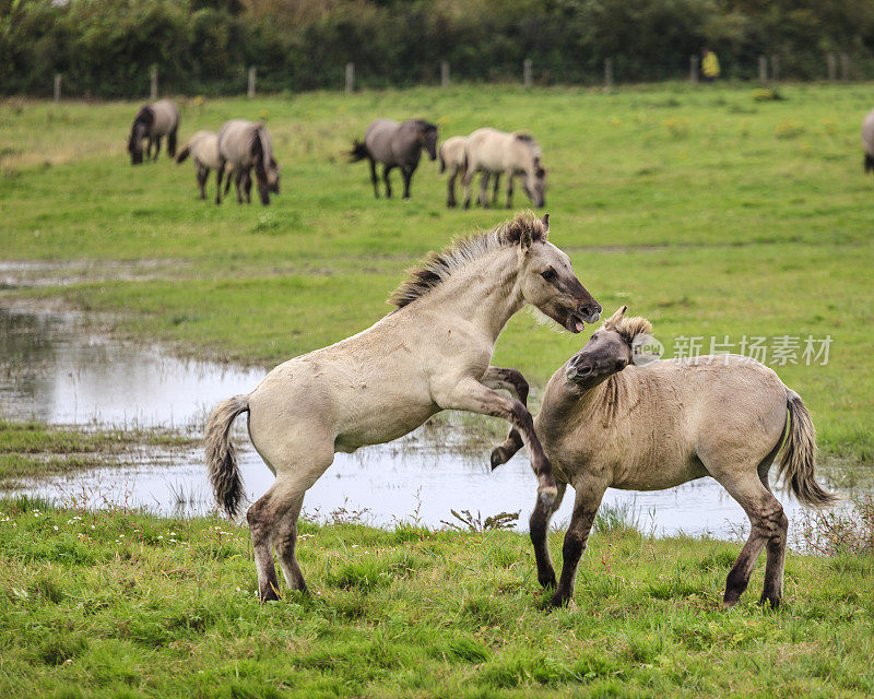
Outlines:
{"type": "Polygon", "coordinates": [[[601,307],[547,234],[548,217],[529,212],[432,252],[392,295],[395,310],[352,337],[281,364],[251,393],[213,411],[206,463],[225,511],[234,517],[243,496],[229,437],[237,415],[249,413],[252,445],[276,476],[247,512],[262,601],[279,593],[271,543],[288,585],[306,590],[295,558],[297,517],[334,452],[397,439],[442,410],[516,426],[540,497],[552,503],[556,486],[524,405],[528,383],[516,369],[489,366],[501,329],[525,304],[570,332],[599,317],[601,307]]]}

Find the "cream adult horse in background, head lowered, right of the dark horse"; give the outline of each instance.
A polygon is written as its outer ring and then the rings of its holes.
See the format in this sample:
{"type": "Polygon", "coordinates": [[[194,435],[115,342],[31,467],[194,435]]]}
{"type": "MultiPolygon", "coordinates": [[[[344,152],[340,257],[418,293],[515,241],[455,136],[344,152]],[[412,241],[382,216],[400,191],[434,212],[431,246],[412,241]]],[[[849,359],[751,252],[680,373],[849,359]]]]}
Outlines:
{"type": "Polygon", "coordinates": [[[527,133],[506,133],[497,129],[476,129],[468,137],[464,146],[464,209],[471,205],[471,180],[475,173],[480,178],[480,204],[488,206],[486,192],[488,179],[495,176],[494,199],[497,199],[498,179],[507,176],[507,209],[512,206],[512,183],[517,175],[523,175],[522,187],[535,208],[546,204],[546,169],[536,141],[527,133]]]}

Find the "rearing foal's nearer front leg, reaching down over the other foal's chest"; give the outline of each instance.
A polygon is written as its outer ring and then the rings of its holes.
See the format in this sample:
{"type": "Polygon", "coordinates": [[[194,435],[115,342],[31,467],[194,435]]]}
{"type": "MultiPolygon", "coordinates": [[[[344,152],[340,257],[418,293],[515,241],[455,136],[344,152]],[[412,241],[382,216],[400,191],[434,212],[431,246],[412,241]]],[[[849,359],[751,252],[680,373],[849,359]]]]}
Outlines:
{"type": "Polygon", "coordinates": [[[456,386],[438,390],[434,401],[442,410],[468,411],[501,417],[511,423],[528,447],[531,467],[538,477],[538,494],[541,500],[550,506],[555,502],[558,488],[553,476],[553,466],[534,431],[534,419],[521,401],[506,398],[472,377],[462,379],[456,386]]]}

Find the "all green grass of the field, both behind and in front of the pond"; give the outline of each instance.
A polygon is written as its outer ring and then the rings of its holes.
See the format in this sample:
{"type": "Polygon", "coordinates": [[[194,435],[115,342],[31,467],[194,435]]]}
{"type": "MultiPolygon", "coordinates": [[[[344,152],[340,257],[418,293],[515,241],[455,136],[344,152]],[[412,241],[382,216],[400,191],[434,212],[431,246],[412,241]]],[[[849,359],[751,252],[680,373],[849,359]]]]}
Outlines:
{"type": "MultiPolygon", "coordinates": [[[[427,162],[412,201],[374,200],[366,166],[344,155],[370,119],[418,115],[444,137],[529,129],[550,169],[551,238],[605,310],[628,304],[649,317],[668,356],[682,336],[707,347],[728,335],[737,350],[744,335],[830,335],[826,366],[776,368],[810,405],[828,460],[870,476],[874,192],[859,127],[871,85],[780,92],[755,102],[737,85],[480,86],[181,100],[182,142],[231,117],[267,121],[283,167],[269,209],[200,202],[190,164],[132,168],[134,104],[7,100],[0,262],[19,281],[0,304],[60,299],[182,354],[281,360],[374,322],[427,250],[509,215],[447,210],[427,162]]],[[[516,204],[527,205],[521,192],[516,204]]],[[[542,387],[583,342],[522,313],[495,363],[542,387]]],[[[0,478],[108,463],[130,439],[176,438],[0,423],[0,478]]],[[[299,557],[317,594],[261,606],[247,532],[227,522],[26,500],[0,501],[0,512],[3,697],[874,692],[870,554],[790,554],[777,613],[754,604],[763,560],[723,614],[736,544],[652,540],[604,520],[576,603],[547,614],[524,536],[307,522],[299,557]]],[[[551,544],[560,562],[558,534],[551,544]]]]}

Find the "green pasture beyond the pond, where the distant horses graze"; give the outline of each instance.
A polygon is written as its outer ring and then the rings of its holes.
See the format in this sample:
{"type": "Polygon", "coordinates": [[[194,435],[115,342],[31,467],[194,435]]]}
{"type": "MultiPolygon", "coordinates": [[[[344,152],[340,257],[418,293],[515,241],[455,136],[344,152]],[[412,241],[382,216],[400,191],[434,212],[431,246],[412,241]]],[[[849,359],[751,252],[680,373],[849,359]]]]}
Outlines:
{"type": "MultiPolygon", "coordinates": [[[[283,167],[269,209],[198,201],[189,164],[130,167],[133,104],[8,100],[0,249],[72,280],[16,294],[119,312],[120,331],[180,352],[280,360],[368,325],[427,250],[509,215],[447,210],[428,162],[412,201],[374,200],[366,165],[344,154],[371,118],[425,116],[444,137],[529,129],[550,169],[552,239],[605,309],[649,317],[668,355],[681,336],[709,347],[728,335],[737,350],[744,335],[830,334],[828,366],[778,370],[810,404],[820,443],[870,465],[874,192],[859,125],[871,86],[781,94],[677,84],[182,100],[182,142],[228,117],[267,121],[283,167]]],[[[527,205],[519,191],[516,205],[527,205]]],[[[542,386],[582,342],[521,315],[495,360],[542,386]]]]}

